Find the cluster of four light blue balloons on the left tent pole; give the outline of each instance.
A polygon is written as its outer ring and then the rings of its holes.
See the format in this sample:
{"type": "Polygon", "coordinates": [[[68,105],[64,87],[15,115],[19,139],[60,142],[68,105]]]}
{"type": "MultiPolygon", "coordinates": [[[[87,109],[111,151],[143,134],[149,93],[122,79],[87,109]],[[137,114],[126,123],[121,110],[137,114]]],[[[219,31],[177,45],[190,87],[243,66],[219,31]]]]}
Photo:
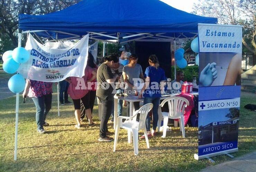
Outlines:
{"type": "MultiPolygon", "coordinates": [[[[3,53],[3,70],[8,74],[17,72],[20,63],[26,63],[29,59],[28,51],[23,47],[17,47],[13,51],[6,51],[3,53]]],[[[26,85],[25,79],[22,75],[13,75],[8,81],[8,88],[13,93],[20,93],[24,90],[26,85]]]]}

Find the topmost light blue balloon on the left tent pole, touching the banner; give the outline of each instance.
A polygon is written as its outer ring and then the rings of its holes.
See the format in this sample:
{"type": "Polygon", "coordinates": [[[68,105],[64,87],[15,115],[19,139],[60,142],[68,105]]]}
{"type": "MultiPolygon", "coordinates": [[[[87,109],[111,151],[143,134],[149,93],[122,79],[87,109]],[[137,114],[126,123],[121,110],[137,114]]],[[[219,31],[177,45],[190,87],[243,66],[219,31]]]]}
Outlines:
{"type": "Polygon", "coordinates": [[[17,47],[12,52],[12,58],[17,63],[26,63],[29,59],[29,53],[25,48],[17,47]]]}

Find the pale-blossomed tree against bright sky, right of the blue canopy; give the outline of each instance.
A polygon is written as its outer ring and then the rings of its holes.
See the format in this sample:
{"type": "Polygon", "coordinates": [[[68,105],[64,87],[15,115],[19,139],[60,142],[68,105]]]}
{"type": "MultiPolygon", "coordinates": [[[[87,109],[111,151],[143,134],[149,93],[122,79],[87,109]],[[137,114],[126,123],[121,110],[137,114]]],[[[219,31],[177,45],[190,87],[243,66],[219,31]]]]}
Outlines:
{"type": "Polygon", "coordinates": [[[255,0],[200,0],[193,13],[217,17],[219,24],[243,25],[243,51],[256,55],[256,1],[255,0]]]}

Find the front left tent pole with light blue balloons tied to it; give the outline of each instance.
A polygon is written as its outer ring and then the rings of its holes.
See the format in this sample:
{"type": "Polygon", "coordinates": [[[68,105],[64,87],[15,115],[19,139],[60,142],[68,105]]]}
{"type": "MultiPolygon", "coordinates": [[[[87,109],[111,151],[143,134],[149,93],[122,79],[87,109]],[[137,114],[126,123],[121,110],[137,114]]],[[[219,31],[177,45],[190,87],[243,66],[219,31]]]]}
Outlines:
{"type": "MultiPolygon", "coordinates": [[[[21,46],[22,33],[19,29],[18,33],[18,47],[21,46]]],[[[19,122],[19,93],[16,93],[16,116],[15,116],[15,144],[14,144],[14,160],[17,160],[17,149],[18,149],[18,122],[19,122]]]]}

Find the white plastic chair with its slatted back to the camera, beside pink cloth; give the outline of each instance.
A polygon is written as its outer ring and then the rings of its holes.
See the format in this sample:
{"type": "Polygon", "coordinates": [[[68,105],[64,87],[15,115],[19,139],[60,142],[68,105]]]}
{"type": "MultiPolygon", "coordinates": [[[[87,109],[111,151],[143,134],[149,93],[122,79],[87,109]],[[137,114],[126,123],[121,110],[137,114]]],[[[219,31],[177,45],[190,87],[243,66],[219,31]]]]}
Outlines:
{"type": "MultiPolygon", "coordinates": [[[[168,124],[168,119],[179,119],[180,122],[180,130],[182,131],[182,136],[185,137],[185,126],[184,126],[184,109],[185,107],[189,106],[189,100],[184,97],[169,97],[164,99],[162,103],[159,105],[158,113],[164,118],[164,125],[163,125],[163,138],[166,137],[166,129],[168,124]],[[168,102],[169,112],[162,112],[161,107],[168,102]]],[[[159,118],[162,119],[162,118],[159,118]]],[[[161,125],[161,120],[158,120],[158,126],[161,125]]]]}

